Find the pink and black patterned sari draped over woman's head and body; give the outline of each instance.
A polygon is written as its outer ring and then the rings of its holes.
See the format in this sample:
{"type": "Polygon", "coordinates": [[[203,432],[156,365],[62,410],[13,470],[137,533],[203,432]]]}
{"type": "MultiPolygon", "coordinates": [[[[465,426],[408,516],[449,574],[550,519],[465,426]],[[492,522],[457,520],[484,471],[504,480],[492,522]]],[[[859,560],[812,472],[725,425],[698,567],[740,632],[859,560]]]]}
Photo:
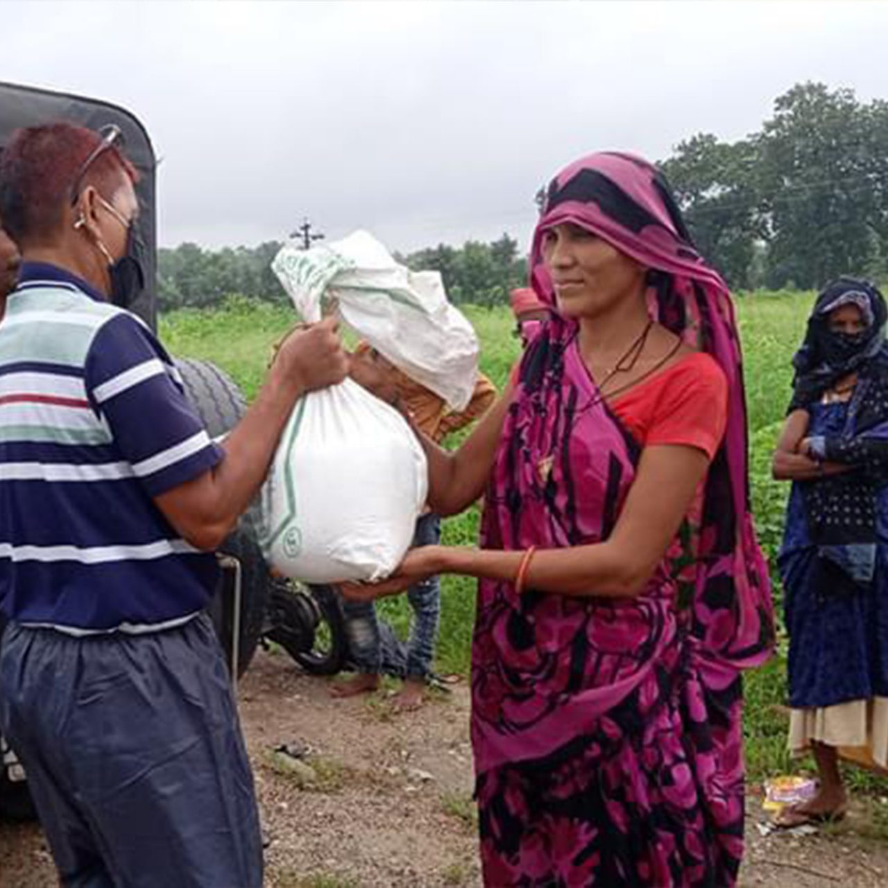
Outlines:
{"type": "MultiPolygon", "coordinates": [[[[554,180],[541,232],[572,221],[652,269],[651,312],[725,370],[725,440],[677,539],[635,599],[482,581],[472,660],[481,856],[491,885],[733,884],[743,842],[741,679],[773,638],[749,515],[733,306],[655,170],[592,155],[554,180]]],[[[607,539],[640,448],[553,315],[527,347],[486,497],[483,545],[607,539]]]]}

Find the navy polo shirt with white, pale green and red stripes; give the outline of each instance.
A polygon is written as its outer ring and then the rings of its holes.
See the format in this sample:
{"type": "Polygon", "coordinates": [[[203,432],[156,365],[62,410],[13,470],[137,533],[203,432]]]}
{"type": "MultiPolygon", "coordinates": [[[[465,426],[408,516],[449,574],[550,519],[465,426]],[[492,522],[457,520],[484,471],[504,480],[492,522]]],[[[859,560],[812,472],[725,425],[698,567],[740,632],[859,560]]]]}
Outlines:
{"type": "Polygon", "coordinates": [[[223,456],[135,315],[25,263],[0,321],[0,610],[73,634],[161,630],[210,599],[216,559],[153,497],[223,456]]]}

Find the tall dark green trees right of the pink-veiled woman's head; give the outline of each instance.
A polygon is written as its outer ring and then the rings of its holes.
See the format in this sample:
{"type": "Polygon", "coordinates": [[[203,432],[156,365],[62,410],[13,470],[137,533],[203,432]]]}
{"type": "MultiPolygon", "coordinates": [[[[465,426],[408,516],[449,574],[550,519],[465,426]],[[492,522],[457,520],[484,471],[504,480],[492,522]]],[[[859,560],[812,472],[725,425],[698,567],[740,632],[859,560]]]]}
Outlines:
{"type": "Polygon", "coordinates": [[[662,162],[704,256],[738,289],[888,276],[888,102],[800,83],[759,131],[662,162]]]}

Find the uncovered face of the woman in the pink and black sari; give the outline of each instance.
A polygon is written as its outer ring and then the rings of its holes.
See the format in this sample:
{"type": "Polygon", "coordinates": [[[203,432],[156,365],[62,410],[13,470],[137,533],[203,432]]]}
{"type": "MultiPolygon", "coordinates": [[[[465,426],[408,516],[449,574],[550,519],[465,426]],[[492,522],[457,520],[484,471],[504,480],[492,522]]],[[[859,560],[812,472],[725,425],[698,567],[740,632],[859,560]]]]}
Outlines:
{"type": "Polygon", "coordinates": [[[542,250],[559,311],[568,317],[607,313],[644,289],[642,266],[580,226],[566,222],[547,229],[542,250]]]}

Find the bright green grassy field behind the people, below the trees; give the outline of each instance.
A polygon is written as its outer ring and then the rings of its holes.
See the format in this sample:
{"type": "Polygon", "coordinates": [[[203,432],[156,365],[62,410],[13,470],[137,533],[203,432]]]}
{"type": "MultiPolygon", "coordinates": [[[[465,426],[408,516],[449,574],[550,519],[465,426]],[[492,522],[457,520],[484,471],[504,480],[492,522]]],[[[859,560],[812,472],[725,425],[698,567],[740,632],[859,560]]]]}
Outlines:
{"type": "MultiPolygon", "coordinates": [[[[788,485],[771,480],[771,450],[789,400],[790,359],[803,336],[810,305],[811,295],[803,293],[752,294],[737,299],[749,406],[753,511],[772,564],[780,544],[789,490],[788,485]]],[[[505,308],[488,311],[472,307],[466,313],[482,343],[481,369],[502,386],[519,353],[518,342],[511,335],[511,314],[505,308]]],[[[234,300],[223,310],[167,315],[161,322],[161,334],[171,353],[218,363],[250,398],[261,385],[272,343],[293,321],[289,308],[234,300]]],[[[445,542],[475,543],[478,518],[478,511],[472,509],[448,519],[445,542]]],[[[438,646],[441,672],[468,671],[473,589],[471,580],[444,580],[438,646]]],[[[779,611],[779,588],[775,588],[775,595],[779,611]]],[[[388,599],[382,608],[398,630],[406,630],[406,601],[388,599]]],[[[749,774],[753,780],[769,773],[786,773],[795,767],[784,750],[787,720],[781,706],[785,702],[785,648],[781,632],[781,644],[773,660],[747,679],[745,725],[749,774]]],[[[867,773],[854,772],[851,780],[856,789],[888,794],[888,781],[867,773]]]]}

